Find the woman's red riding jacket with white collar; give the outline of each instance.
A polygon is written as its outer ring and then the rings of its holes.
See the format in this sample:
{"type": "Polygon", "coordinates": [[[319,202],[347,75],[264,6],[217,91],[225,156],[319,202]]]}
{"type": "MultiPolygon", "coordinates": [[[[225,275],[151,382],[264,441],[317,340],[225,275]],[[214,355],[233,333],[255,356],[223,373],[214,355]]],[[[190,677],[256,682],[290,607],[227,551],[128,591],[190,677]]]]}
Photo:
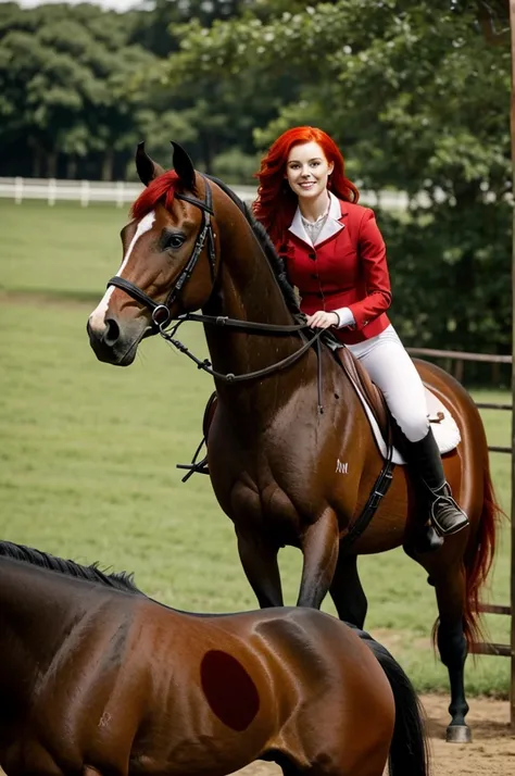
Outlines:
{"type": "Polygon", "coordinates": [[[331,196],[328,220],[315,247],[305,241],[297,211],[280,253],[306,315],[317,310],[351,310],[355,325],[334,329],[343,343],[362,342],[389,325],[385,311],[390,306],[391,290],[385,241],[368,208],[331,196]],[[335,217],[337,203],[339,218],[335,217]]]}

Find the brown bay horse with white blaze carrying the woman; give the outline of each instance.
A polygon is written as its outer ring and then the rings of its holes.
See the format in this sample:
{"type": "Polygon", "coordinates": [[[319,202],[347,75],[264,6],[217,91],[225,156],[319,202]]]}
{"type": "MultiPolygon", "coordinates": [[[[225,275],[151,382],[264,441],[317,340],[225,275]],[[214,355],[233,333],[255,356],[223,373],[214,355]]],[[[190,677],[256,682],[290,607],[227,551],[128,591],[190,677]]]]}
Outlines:
{"type": "Polygon", "coordinates": [[[282,605],[277,554],[290,545],[303,553],[298,604],[319,608],[329,592],[339,617],[361,628],[367,603],[357,555],[403,546],[436,590],[437,643],[451,684],[448,739],[469,740],[464,664],[478,630],[477,601],[498,513],[477,408],[447,373],[417,363],[461,433],[443,463],[469,528],[437,552],[417,552],[410,537],[423,520],[422,506],[398,466],[370,525],[351,547],[342,545],[382,466],[363,406],[329,348],[317,354],[293,330],[293,291],[263,230],[229,189],[196,173],[176,143],[174,166],[165,173],[142,143],[138,148],[147,188],[122,234],[118,274],[89,318],[91,347],[101,361],[126,366],[140,341],[171,318],[199,309],[214,316],[205,323],[218,398],[209,470],[260,605],[282,605]],[[244,324],[231,328],[226,316],[244,324]],[[252,323],[261,328],[247,330],[252,323]],[[291,333],[276,336],[280,326],[291,333]],[[338,462],[348,463],[344,474],[338,462]]]}

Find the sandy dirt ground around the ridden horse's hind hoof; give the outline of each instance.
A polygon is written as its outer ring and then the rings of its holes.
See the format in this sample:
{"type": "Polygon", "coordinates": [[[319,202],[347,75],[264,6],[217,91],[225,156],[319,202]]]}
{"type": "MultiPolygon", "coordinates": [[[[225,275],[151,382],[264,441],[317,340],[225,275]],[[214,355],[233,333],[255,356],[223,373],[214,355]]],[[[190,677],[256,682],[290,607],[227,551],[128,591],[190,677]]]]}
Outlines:
{"type": "MultiPolygon", "coordinates": [[[[447,743],[447,696],[422,696],[432,754],[432,776],[515,776],[515,735],[510,727],[507,701],[469,699],[468,724],[473,742],[447,743]]],[[[276,765],[255,763],[238,776],[281,776],[276,765]]],[[[405,776],[411,776],[405,774],[405,776]]]]}

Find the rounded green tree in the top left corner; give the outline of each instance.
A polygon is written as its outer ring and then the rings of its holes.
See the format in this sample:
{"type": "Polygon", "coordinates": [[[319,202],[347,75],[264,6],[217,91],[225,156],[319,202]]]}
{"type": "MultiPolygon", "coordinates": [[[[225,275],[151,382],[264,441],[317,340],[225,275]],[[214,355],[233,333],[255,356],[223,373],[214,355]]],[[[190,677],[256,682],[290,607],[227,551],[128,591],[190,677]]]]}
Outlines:
{"type": "Polygon", "coordinates": [[[9,143],[23,137],[34,154],[33,171],[55,175],[59,154],[134,149],[146,96],[129,85],[154,58],[129,45],[129,33],[118,14],[87,4],[30,10],[0,4],[7,158],[9,143]]]}

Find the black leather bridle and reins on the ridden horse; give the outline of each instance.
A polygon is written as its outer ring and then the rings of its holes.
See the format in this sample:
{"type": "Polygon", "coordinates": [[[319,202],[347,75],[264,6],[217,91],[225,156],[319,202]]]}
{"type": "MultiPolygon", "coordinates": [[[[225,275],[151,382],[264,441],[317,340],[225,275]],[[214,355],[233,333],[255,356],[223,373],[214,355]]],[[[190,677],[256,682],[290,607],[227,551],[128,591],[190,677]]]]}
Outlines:
{"type": "Polygon", "coordinates": [[[191,359],[191,361],[193,361],[197,364],[197,367],[199,370],[206,372],[212,377],[214,377],[218,380],[222,380],[223,383],[226,383],[226,384],[242,383],[243,380],[259,379],[260,377],[265,377],[267,375],[274,374],[275,372],[279,372],[280,370],[284,370],[287,366],[290,366],[291,364],[296,363],[296,361],[301,359],[310,348],[315,346],[317,359],[318,359],[318,368],[317,368],[318,412],[322,414],[324,412],[324,406],[322,404],[321,337],[324,335],[325,329],[317,330],[315,334],[313,334],[311,337],[309,337],[306,339],[304,331],[306,329],[309,331],[311,331],[312,329],[310,329],[310,327],[305,323],[277,325],[277,324],[255,323],[252,321],[238,321],[237,318],[229,318],[224,315],[200,315],[200,314],[196,314],[196,313],[186,313],[185,315],[179,315],[178,318],[176,318],[177,323],[172,327],[172,329],[169,331],[166,331],[166,327],[172,323],[171,308],[174,304],[174,302],[176,302],[178,300],[183,288],[188,283],[191,275],[193,274],[194,267],[197,266],[197,262],[199,261],[199,259],[202,254],[205,243],[208,243],[208,259],[209,259],[209,263],[210,263],[211,279],[212,279],[213,284],[216,279],[216,253],[215,253],[213,227],[212,227],[212,223],[211,223],[211,216],[214,215],[213,196],[211,192],[211,187],[210,187],[208,178],[205,178],[205,176],[202,176],[202,177],[204,178],[204,184],[205,184],[205,199],[204,199],[204,201],[197,199],[194,197],[188,197],[186,195],[180,195],[180,193],[175,195],[175,197],[177,199],[184,200],[185,202],[189,202],[190,204],[196,205],[197,208],[199,208],[202,211],[202,224],[200,226],[200,231],[197,237],[196,243],[193,246],[192,253],[191,253],[190,258],[188,259],[186,266],[179,273],[177,280],[175,281],[174,286],[172,287],[172,290],[167,295],[165,301],[164,302],[154,301],[151,297],[148,296],[148,293],[146,293],[141,288],[136,286],[134,283],[131,283],[130,280],[127,280],[124,277],[120,277],[117,275],[115,275],[114,277],[112,277],[109,280],[108,288],[110,286],[116,286],[116,288],[121,288],[123,291],[128,293],[129,297],[131,297],[136,301],[140,302],[146,308],[148,308],[152,313],[152,323],[153,323],[154,327],[158,329],[159,334],[161,335],[161,337],[163,337],[163,339],[165,341],[167,341],[169,345],[172,345],[174,348],[176,348],[180,353],[184,353],[189,359],[191,359]],[[255,372],[248,372],[248,373],[241,374],[241,375],[235,375],[231,372],[229,372],[227,374],[223,374],[222,372],[216,372],[215,370],[213,370],[213,366],[208,359],[201,360],[201,359],[198,359],[196,355],[193,355],[193,353],[191,353],[189,351],[187,346],[184,345],[180,340],[178,340],[175,337],[175,334],[176,334],[178,327],[186,321],[192,321],[192,322],[203,323],[206,325],[214,325],[214,326],[226,326],[228,328],[237,328],[240,331],[247,331],[249,334],[268,334],[268,335],[286,336],[289,334],[299,333],[301,338],[305,341],[302,345],[302,347],[299,348],[299,350],[294,351],[293,353],[288,355],[286,359],[282,359],[281,361],[278,361],[275,364],[271,364],[269,366],[265,366],[262,370],[256,370],[255,372]]]}

